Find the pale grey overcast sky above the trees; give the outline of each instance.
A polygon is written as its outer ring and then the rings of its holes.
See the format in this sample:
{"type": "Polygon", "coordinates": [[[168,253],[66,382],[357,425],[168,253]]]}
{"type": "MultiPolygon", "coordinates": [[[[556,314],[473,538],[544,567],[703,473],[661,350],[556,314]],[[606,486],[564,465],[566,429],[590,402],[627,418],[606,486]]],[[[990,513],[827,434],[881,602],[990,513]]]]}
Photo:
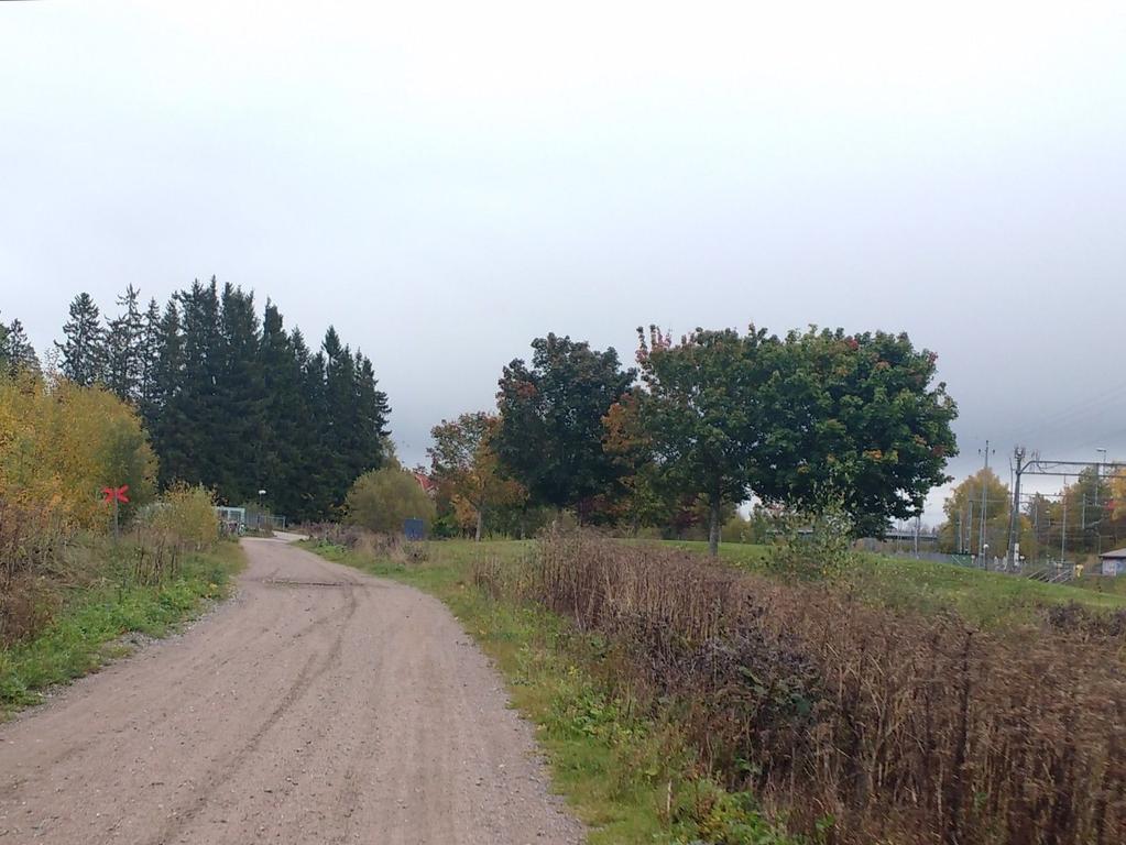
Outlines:
{"type": "Polygon", "coordinates": [[[0,312],[252,288],[409,462],[549,331],[904,330],[953,474],[1126,459],[1124,45],[1120,0],[0,2],[0,312]]]}

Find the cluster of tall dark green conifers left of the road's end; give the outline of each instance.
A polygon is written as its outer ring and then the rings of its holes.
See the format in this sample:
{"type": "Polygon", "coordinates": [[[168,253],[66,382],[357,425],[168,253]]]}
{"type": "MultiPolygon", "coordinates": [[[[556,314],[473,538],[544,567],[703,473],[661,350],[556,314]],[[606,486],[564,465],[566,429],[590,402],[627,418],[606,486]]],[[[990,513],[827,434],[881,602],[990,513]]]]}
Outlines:
{"type": "Polygon", "coordinates": [[[137,408],[159,482],[203,484],[220,502],[261,503],[292,520],[334,515],[351,483],[387,453],[387,396],[370,359],[329,327],[316,350],[268,299],[198,280],[142,306],[132,285],[104,320],[70,304],[59,370],[137,408]],[[265,495],[259,496],[259,491],[265,495]]]}

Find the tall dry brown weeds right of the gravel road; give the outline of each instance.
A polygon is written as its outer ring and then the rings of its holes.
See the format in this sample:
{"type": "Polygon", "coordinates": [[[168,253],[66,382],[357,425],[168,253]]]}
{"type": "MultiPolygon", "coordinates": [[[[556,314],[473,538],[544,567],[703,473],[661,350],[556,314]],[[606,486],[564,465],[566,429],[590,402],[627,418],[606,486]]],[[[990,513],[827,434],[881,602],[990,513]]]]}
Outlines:
{"type": "Polygon", "coordinates": [[[673,714],[711,772],[794,830],[1126,840],[1120,620],[1069,609],[993,633],[582,533],[475,577],[605,636],[623,693],[673,714]]]}

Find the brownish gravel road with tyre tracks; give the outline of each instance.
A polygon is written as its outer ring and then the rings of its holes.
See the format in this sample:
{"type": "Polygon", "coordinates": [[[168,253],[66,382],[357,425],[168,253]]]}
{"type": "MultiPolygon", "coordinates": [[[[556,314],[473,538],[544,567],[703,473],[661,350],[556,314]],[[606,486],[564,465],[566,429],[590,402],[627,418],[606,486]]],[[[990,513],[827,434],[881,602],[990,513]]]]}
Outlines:
{"type": "Polygon", "coordinates": [[[243,542],[235,600],[0,725],[0,845],[582,840],[436,599],[243,542]]]}

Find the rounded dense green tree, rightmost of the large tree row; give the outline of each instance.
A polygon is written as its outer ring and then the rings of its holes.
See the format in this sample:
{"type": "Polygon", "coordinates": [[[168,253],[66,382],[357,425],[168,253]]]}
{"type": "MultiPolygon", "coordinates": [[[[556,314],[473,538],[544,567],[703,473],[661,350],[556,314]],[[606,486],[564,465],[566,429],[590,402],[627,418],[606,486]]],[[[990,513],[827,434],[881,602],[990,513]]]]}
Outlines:
{"type": "Polygon", "coordinates": [[[906,334],[789,333],[766,388],[756,493],[814,513],[840,503],[861,536],[921,513],[957,453],[935,361],[906,334]]]}

